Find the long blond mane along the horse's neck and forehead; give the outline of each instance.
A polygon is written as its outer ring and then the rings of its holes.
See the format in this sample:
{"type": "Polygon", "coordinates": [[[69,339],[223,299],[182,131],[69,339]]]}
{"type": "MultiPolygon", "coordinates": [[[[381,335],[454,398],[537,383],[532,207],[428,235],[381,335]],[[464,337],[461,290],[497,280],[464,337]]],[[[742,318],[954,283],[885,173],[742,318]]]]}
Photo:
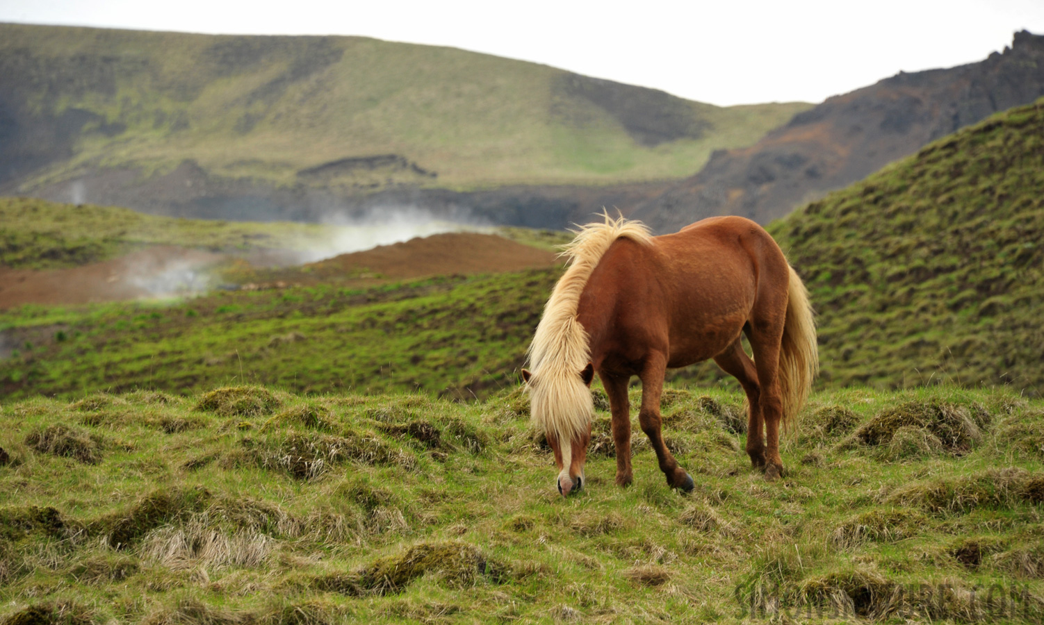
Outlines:
{"type": "Polygon", "coordinates": [[[575,231],[576,237],[560,255],[567,259],[569,268],[554,285],[529,344],[532,419],[559,440],[569,441],[586,433],[593,410],[591,393],[579,376],[591,360],[587,332],[576,319],[580,293],[613,241],[620,237],[642,244],[652,241],[640,221],[628,221],[622,215],[613,219],[608,213],[603,217],[603,223],[589,223],[575,231]]]}

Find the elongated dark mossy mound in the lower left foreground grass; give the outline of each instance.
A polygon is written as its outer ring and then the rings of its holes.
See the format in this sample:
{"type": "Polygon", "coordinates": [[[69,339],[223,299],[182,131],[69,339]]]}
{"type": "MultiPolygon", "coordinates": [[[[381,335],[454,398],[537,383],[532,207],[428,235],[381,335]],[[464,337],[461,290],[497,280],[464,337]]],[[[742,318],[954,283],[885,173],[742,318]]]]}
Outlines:
{"type": "Polygon", "coordinates": [[[175,520],[185,520],[206,508],[212,496],[206,488],[164,488],[156,490],[125,510],[106,514],[88,527],[114,549],[126,549],[153,529],[175,520]]]}

